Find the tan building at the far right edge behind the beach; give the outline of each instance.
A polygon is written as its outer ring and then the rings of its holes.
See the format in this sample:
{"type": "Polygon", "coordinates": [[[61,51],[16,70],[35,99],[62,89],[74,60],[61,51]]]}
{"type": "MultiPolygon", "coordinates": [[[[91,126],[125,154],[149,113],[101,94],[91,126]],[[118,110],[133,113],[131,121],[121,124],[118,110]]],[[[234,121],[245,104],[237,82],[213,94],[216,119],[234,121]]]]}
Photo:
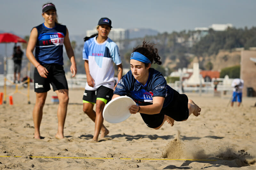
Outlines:
{"type": "Polygon", "coordinates": [[[243,96],[256,96],[256,50],[241,51],[240,78],[244,80],[243,96]]]}

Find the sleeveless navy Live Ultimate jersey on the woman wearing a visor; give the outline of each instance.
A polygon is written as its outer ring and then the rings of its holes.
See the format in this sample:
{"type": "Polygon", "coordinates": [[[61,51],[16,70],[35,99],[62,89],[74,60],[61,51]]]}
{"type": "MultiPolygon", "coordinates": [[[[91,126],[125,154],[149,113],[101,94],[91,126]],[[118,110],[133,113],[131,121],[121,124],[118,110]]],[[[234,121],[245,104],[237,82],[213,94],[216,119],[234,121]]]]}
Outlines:
{"type": "Polygon", "coordinates": [[[38,32],[36,42],[36,60],[40,64],[63,65],[63,43],[66,36],[66,26],[55,23],[54,28],[43,24],[35,27],[38,32]]]}

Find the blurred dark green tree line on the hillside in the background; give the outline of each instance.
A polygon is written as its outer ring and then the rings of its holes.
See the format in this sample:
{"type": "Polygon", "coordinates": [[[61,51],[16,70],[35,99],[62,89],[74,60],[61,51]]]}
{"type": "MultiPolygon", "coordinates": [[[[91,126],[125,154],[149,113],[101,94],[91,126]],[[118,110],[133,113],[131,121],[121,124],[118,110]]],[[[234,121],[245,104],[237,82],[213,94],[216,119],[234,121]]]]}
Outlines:
{"type": "MultiPolygon", "coordinates": [[[[165,32],[159,33],[156,36],[145,36],[144,38],[120,41],[124,44],[124,49],[120,49],[124,68],[130,67],[129,61],[132,49],[140,45],[143,40],[156,44],[158,54],[161,56],[161,61],[163,63],[165,61],[167,62],[167,65],[175,63],[174,67],[167,68],[153,64],[153,67],[157,66],[156,69],[160,70],[164,75],[166,75],[166,72],[170,73],[178,68],[188,67],[194,57],[217,55],[219,50],[222,49],[232,50],[234,48],[249,49],[250,47],[256,47],[256,27],[252,27],[250,29],[247,27],[229,27],[225,31],[214,31],[213,29],[209,29],[207,33],[202,33],[203,31],[184,30],[180,32],[165,32]],[[168,69],[168,71],[166,71],[166,69],[168,69]]],[[[25,39],[27,40],[28,36],[26,36],[25,39]]],[[[78,46],[76,41],[72,41],[71,44],[75,52],[76,60],[79,60],[78,73],[85,73],[84,63],[83,60],[81,60],[82,54],[80,54],[82,50],[78,49],[83,48],[83,46],[78,46]],[[79,51],[79,53],[76,51],[79,51]]],[[[24,44],[24,46],[26,45],[24,44]]],[[[64,57],[64,62],[66,62],[64,63],[64,66],[69,65],[67,57],[64,57]]],[[[200,69],[210,70],[213,64],[214,63],[200,64],[200,69]]]]}

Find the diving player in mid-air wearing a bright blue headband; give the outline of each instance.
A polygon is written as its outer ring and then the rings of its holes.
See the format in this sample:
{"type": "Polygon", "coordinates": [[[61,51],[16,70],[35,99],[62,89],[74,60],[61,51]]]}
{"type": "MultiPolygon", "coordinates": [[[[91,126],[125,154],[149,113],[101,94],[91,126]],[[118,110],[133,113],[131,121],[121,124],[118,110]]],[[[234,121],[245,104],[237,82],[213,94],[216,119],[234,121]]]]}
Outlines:
{"type": "Polygon", "coordinates": [[[163,75],[150,68],[153,61],[161,64],[154,44],[143,41],[133,49],[131,70],[118,82],[112,99],[127,95],[137,105],[130,107],[130,113],[140,113],[148,127],[159,129],[167,121],[173,126],[175,121],[185,121],[192,113],[200,115],[201,108],[185,94],[179,94],[166,84],[163,75]]]}

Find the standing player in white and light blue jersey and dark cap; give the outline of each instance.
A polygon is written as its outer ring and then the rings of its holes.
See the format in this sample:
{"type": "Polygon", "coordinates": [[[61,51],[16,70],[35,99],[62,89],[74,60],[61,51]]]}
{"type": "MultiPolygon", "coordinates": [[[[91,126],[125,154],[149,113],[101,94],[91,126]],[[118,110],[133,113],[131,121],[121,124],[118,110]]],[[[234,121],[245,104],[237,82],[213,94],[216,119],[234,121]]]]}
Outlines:
{"type": "Polygon", "coordinates": [[[83,60],[87,83],[83,96],[83,111],[95,122],[92,138],[94,141],[98,141],[100,132],[100,137],[105,137],[109,133],[103,125],[102,112],[106,103],[111,100],[115,88],[113,63],[117,65],[118,81],[123,74],[119,49],[116,43],[108,38],[111,28],[109,18],[100,18],[98,33],[84,38],[83,60]]]}

